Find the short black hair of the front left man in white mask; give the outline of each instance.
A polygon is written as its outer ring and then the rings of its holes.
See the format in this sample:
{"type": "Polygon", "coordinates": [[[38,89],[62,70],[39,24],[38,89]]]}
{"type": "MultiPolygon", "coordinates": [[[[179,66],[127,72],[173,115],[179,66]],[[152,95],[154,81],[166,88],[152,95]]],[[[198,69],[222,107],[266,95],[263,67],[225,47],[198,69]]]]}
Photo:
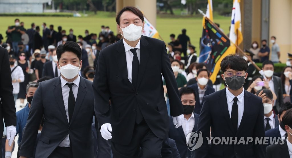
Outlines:
{"type": "Polygon", "coordinates": [[[61,55],[66,51],[73,52],[74,54],[77,55],[79,61],[81,61],[82,51],[80,46],[76,42],[67,41],[65,44],[61,44],[60,46],[58,46],[56,52],[58,61],[60,60],[61,55]]]}

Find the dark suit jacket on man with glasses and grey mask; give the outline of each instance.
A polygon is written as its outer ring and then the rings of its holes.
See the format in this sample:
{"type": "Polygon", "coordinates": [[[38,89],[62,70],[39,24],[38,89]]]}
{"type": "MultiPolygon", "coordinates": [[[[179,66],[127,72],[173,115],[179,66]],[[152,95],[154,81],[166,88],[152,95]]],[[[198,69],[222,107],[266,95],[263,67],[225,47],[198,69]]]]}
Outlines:
{"type": "MultiPolygon", "coordinates": [[[[244,112],[237,132],[232,127],[232,121],[228,112],[226,88],[216,91],[204,97],[203,107],[199,117],[198,131],[203,136],[203,144],[195,151],[195,157],[265,157],[265,145],[255,145],[255,137],[265,137],[264,106],[262,99],[244,90],[244,112]],[[213,142],[208,145],[207,137],[219,137],[221,140],[227,137],[244,138],[253,137],[253,142],[244,145],[218,145],[213,142]]],[[[237,140],[239,142],[239,140],[237,140]]],[[[234,142],[233,142],[234,144],[234,142]]]]}

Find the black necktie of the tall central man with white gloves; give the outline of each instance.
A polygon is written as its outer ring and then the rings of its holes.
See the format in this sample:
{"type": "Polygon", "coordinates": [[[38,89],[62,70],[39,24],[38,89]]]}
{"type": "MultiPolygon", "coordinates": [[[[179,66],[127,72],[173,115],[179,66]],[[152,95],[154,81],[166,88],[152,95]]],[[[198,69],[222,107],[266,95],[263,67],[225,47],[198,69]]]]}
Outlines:
{"type": "MultiPolygon", "coordinates": [[[[130,49],[130,51],[134,54],[133,62],[132,62],[132,84],[133,84],[135,89],[137,88],[138,72],[139,72],[139,60],[138,60],[138,56],[137,56],[137,51],[136,50],[137,50],[137,48],[130,49]]],[[[141,110],[140,110],[140,108],[138,106],[138,103],[137,103],[136,109],[137,110],[136,110],[136,120],[135,120],[135,122],[137,124],[140,124],[142,122],[142,120],[143,120],[143,116],[142,116],[141,110]]]]}

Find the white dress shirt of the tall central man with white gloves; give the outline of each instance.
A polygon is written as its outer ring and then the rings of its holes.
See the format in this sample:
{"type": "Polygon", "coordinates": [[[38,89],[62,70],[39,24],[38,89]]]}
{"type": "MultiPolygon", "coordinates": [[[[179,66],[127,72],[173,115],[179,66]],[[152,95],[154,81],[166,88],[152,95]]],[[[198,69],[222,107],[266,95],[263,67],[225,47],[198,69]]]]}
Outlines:
{"type": "Polygon", "coordinates": [[[126,60],[127,60],[127,68],[128,68],[128,79],[129,81],[132,83],[132,62],[133,62],[133,58],[134,58],[134,54],[130,51],[130,49],[132,48],[137,48],[137,57],[140,63],[140,41],[141,39],[138,41],[137,45],[135,47],[132,47],[130,45],[128,45],[125,40],[123,40],[124,42],[124,47],[125,47],[125,52],[126,52],[126,60]]]}

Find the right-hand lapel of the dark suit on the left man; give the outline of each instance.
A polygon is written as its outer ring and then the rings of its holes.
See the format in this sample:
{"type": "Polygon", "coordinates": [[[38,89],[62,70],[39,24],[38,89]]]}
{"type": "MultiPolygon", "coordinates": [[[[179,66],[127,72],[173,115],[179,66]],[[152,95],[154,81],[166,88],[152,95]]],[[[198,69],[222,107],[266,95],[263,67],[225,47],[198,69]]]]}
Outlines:
{"type": "Polygon", "coordinates": [[[77,113],[79,112],[79,109],[83,103],[85,94],[86,94],[86,84],[85,84],[85,79],[83,77],[80,76],[80,83],[78,86],[78,94],[77,94],[77,98],[76,98],[76,103],[75,103],[75,107],[74,107],[74,111],[73,111],[73,115],[72,115],[72,120],[70,121],[70,124],[72,124],[74,118],[76,117],[77,113]]]}

